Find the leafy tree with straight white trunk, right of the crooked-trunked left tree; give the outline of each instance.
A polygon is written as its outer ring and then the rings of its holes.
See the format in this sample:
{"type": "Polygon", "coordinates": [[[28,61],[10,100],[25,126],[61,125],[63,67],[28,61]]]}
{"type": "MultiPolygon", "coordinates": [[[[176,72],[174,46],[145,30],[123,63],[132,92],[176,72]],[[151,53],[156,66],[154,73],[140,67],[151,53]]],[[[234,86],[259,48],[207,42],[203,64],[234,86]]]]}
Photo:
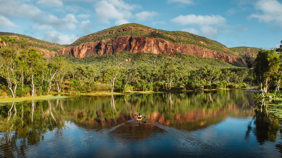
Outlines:
{"type": "Polygon", "coordinates": [[[27,54],[27,65],[28,65],[28,74],[31,79],[31,96],[35,96],[36,94],[36,84],[34,84],[34,76],[39,75],[43,72],[41,69],[41,62],[42,62],[42,56],[44,56],[44,53],[39,53],[38,49],[29,49],[27,54]]]}

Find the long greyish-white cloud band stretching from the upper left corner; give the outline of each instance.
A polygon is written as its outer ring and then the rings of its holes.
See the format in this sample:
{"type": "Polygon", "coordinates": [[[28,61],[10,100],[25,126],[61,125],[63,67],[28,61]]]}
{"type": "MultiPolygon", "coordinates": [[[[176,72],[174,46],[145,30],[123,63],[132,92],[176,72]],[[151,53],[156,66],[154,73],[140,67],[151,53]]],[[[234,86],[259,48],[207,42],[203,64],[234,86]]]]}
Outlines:
{"type": "Polygon", "coordinates": [[[0,15],[9,18],[27,18],[39,23],[40,25],[50,25],[61,30],[71,30],[76,27],[76,20],[73,14],[67,14],[65,18],[58,18],[52,14],[48,14],[36,6],[29,4],[21,4],[19,1],[4,1],[0,5],[0,15]]]}

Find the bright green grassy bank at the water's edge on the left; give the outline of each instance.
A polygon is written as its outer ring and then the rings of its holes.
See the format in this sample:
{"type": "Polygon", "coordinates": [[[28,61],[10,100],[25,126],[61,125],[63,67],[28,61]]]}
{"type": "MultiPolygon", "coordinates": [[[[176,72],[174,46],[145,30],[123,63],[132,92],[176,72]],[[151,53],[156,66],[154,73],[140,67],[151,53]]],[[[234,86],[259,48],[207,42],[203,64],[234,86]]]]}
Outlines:
{"type": "Polygon", "coordinates": [[[49,99],[61,99],[67,98],[68,96],[54,96],[54,95],[41,95],[41,96],[27,96],[27,97],[20,97],[20,98],[0,98],[0,103],[11,103],[11,102],[22,102],[26,100],[49,100],[49,99]]]}

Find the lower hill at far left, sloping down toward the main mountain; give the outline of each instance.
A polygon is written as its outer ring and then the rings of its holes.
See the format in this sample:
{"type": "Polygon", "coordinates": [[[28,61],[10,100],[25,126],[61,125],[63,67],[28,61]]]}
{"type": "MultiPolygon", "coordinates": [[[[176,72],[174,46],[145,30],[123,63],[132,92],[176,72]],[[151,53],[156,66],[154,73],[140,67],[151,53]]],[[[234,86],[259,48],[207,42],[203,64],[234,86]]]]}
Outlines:
{"type": "Polygon", "coordinates": [[[25,39],[27,41],[28,47],[36,48],[39,50],[39,52],[45,52],[46,57],[55,56],[60,49],[65,47],[64,45],[60,45],[58,43],[51,43],[51,42],[43,41],[43,40],[36,39],[30,36],[22,35],[22,34],[15,34],[15,33],[10,33],[10,32],[0,32],[0,36],[3,36],[3,35],[14,37],[17,40],[25,39]]]}

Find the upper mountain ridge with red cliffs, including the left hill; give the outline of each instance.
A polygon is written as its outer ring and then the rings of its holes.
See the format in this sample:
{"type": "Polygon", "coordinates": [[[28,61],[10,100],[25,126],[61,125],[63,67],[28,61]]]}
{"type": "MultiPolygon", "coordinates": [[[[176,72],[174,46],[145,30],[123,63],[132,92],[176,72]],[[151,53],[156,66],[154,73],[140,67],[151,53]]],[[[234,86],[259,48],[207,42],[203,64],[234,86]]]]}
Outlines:
{"type": "Polygon", "coordinates": [[[244,56],[255,56],[257,48],[233,47],[184,31],[159,30],[136,23],[114,26],[78,38],[70,45],[60,45],[21,34],[0,32],[0,35],[27,39],[30,47],[45,51],[45,56],[69,54],[76,58],[92,54],[153,52],[155,54],[184,53],[196,57],[220,59],[228,63],[245,64],[244,56]]]}

